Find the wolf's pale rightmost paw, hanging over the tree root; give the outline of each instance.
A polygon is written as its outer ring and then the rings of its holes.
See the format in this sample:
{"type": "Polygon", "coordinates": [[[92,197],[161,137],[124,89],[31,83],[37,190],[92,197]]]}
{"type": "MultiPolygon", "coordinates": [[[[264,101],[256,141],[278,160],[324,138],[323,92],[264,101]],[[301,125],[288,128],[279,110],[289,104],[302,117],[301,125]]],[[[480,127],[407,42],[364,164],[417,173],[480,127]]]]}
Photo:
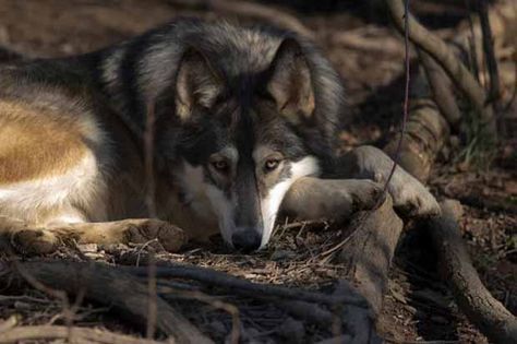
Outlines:
{"type": "MultiPolygon", "coordinates": [[[[380,175],[375,178],[385,182],[380,175]]],[[[428,189],[410,174],[397,166],[388,185],[395,209],[408,217],[430,217],[440,214],[440,205],[428,189]]]]}

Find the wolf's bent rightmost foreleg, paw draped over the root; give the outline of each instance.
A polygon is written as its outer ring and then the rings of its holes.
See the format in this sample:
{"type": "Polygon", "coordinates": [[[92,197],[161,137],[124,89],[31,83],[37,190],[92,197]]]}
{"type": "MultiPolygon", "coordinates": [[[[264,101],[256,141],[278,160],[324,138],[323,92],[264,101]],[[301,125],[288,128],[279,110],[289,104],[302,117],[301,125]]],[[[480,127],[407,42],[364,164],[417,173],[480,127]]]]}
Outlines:
{"type": "MultiPolygon", "coordinates": [[[[393,159],[383,151],[365,145],[342,156],[337,173],[346,178],[364,178],[384,183],[393,164],[393,159]]],[[[395,169],[387,190],[395,209],[404,215],[432,216],[440,213],[438,203],[431,192],[399,166],[395,169]]]]}

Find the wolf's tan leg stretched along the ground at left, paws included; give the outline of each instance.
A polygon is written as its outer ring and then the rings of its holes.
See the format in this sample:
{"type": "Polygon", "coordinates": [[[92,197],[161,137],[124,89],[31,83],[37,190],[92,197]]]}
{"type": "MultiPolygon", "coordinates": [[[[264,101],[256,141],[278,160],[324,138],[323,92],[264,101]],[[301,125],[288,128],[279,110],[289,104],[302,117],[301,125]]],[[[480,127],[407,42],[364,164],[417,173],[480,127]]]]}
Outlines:
{"type": "Polygon", "coordinates": [[[0,216],[0,234],[9,238],[22,253],[43,254],[59,245],[75,240],[79,244],[144,244],[156,239],[168,251],[178,251],[187,242],[180,228],[159,220],[122,220],[104,223],[75,223],[41,228],[23,221],[0,216]]]}

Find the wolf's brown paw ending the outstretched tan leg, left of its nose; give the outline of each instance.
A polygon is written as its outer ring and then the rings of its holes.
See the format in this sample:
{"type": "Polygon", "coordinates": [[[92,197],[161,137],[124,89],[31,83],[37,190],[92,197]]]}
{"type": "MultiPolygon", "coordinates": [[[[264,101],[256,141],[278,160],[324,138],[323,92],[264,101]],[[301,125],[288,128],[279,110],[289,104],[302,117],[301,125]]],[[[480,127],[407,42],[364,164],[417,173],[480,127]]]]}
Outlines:
{"type": "Polygon", "coordinates": [[[169,252],[177,252],[187,244],[185,233],[160,220],[131,221],[124,233],[128,242],[146,244],[156,239],[169,252]]]}

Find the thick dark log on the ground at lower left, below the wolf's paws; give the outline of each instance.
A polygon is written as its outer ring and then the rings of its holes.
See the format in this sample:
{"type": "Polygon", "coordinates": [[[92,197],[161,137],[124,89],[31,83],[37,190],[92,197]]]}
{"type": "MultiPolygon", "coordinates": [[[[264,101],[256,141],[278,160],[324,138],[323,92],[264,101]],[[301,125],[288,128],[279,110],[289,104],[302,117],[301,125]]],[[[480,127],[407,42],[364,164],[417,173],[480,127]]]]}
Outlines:
{"type": "MultiPolygon", "coordinates": [[[[47,288],[71,295],[84,293],[87,299],[112,307],[121,317],[143,329],[147,324],[148,304],[153,300],[147,286],[128,273],[101,264],[65,261],[0,263],[0,281],[3,283],[21,285],[26,275],[47,288]]],[[[164,299],[157,296],[154,301],[156,327],[161,333],[179,343],[213,343],[164,299]]]]}

